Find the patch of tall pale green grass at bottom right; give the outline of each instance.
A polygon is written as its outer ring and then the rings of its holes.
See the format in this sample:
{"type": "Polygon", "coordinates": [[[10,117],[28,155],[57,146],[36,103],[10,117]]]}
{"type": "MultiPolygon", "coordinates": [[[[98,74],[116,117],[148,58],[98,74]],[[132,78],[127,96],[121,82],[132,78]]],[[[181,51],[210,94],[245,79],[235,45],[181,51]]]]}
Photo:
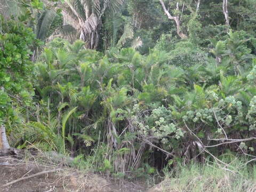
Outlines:
{"type": "Polygon", "coordinates": [[[221,167],[214,163],[179,166],[165,170],[166,179],[159,183],[162,191],[171,192],[251,192],[256,191],[256,167],[243,161],[221,167]]]}

